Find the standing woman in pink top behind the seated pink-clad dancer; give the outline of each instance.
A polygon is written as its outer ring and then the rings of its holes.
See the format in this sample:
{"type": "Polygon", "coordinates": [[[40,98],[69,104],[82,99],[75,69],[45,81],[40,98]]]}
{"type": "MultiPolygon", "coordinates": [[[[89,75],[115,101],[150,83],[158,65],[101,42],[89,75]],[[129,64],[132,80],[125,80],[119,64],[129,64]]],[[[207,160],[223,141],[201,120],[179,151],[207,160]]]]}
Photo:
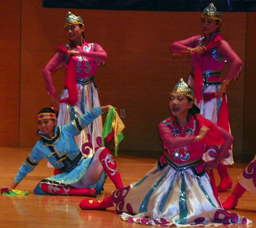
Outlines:
{"type": "MultiPolygon", "coordinates": [[[[173,55],[191,55],[192,72],[188,78],[188,85],[195,90],[196,104],[201,114],[226,131],[230,131],[225,91],[230,82],[239,76],[242,61],[228,42],[222,39],[221,24],[222,13],[218,12],[211,3],[204,9],[201,16],[203,36],[198,35],[176,41],[170,45],[170,50],[173,55]],[[225,61],[230,63],[230,67],[227,74],[221,76],[225,61]]],[[[206,149],[203,159],[212,160],[214,155],[212,148],[206,149]]],[[[222,164],[217,167],[221,177],[219,192],[232,187],[232,180],[226,166],[231,164],[233,164],[233,157],[230,149],[222,164]]]]}

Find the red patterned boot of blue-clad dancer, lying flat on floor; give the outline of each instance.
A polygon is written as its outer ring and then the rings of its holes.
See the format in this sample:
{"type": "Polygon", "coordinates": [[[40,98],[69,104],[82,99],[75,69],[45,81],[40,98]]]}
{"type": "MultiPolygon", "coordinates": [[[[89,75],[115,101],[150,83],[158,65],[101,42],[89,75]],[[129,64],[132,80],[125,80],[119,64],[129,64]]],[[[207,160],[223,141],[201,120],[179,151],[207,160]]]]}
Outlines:
{"type": "Polygon", "coordinates": [[[85,195],[96,197],[96,190],[94,188],[75,188],[70,185],[48,185],[48,184],[40,184],[40,189],[47,193],[53,195],[85,195]]]}

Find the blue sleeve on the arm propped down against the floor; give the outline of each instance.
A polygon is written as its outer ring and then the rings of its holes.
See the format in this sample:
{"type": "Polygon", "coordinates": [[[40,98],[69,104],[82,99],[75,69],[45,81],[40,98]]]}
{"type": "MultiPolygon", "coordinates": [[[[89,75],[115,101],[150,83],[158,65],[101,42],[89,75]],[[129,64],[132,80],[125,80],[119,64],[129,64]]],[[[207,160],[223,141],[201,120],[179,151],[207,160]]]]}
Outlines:
{"type": "Polygon", "coordinates": [[[39,161],[43,159],[37,144],[33,147],[30,155],[28,156],[26,161],[22,164],[22,167],[19,168],[19,171],[14,178],[14,182],[16,183],[21,182],[29,172],[32,172],[34,170],[34,168],[37,166],[39,161]]]}

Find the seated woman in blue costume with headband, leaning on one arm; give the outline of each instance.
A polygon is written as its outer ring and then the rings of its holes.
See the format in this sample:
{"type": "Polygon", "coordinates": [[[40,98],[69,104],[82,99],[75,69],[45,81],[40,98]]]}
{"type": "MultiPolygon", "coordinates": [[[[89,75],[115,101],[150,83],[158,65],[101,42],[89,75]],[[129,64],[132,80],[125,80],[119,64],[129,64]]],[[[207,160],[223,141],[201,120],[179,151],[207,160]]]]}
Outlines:
{"type": "MultiPolygon", "coordinates": [[[[86,195],[96,197],[102,191],[106,175],[122,188],[117,165],[109,149],[98,147],[92,158],[82,156],[74,136],[94,119],[108,112],[112,106],[93,108],[67,125],[57,126],[57,117],[51,108],[42,109],[37,117],[38,134],[41,137],[33,147],[25,163],[19,169],[10,188],[15,189],[23,178],[46,159],[60,174],[46,178],[35,187],[35,194],[86,195]]],[[[1,190],[3,190],[1,189],[1,190]]]]}

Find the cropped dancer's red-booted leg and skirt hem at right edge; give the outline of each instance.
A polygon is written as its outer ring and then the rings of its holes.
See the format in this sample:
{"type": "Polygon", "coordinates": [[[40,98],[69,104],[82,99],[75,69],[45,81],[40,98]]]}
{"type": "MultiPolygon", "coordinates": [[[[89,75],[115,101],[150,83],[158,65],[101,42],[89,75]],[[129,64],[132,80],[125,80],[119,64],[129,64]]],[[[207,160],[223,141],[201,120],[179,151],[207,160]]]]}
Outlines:
{"type": "Polygon", "coordinates": [[[238,199],[242,197],[246,190],[250,191],[256,196],[256,183],[255,183],[255,172],[256,172],[256,155],[249,165],[239,176],[239,182],[232,191],[232,194],[223,203],[223,208],[226,210],[232,210],[237,207],[238,199]]]}

